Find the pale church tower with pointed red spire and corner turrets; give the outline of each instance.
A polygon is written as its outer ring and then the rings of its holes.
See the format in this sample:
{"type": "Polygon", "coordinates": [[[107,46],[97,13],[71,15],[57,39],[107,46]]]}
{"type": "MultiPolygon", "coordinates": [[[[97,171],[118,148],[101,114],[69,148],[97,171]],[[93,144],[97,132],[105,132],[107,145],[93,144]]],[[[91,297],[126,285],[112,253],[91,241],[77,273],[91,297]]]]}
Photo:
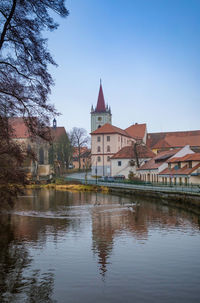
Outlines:
{"type": "Polygon", "coordinates": [[[97,106],[91,108],[91,132],[103,126],[105,123],[112,124],[111,108],[105,105],[102,84],[100,80],[99,96],[97,106]]]}

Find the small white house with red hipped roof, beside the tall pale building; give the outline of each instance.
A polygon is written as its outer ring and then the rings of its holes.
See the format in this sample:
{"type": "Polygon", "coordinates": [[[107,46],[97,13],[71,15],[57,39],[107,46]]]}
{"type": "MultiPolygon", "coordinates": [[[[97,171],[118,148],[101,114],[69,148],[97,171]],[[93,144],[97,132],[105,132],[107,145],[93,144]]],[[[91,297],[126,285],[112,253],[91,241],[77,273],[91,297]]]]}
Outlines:
{"type": "Polygon", "coordinates": [[[111,157],[111,176],[124,175],[128,178],[129,173],[137,173],[138,166],[143,165],[155,154],[145,145],[133,143],[131,146],[125,146],[111,157]]]}

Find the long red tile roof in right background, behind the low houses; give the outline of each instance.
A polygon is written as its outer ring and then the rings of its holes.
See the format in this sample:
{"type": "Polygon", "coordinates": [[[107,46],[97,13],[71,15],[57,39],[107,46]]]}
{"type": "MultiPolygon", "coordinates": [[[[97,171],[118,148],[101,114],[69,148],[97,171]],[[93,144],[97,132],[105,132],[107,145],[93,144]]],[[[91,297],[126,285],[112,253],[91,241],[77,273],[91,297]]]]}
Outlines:
{"type": "MultiPolygon", "coordinates": [[[[147,145],[153,149],[163,148],[163,143],[171,147],[183,147],[185,145],[200,146],[200,130],[149,133],[147,135],[147,145]]],[[[165,147],[165,146],[164,146],[165,147]]]]}

